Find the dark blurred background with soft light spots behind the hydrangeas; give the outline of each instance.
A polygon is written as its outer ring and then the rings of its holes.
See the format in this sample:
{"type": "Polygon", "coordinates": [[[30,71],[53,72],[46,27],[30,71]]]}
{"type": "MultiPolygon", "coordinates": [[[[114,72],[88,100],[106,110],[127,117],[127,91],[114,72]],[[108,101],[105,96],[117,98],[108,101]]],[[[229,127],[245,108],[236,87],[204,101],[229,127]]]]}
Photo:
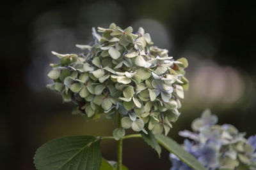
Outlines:
{"type": "MultiPolygon", "coordinates": [[[[115,22],[144,27],[155,45],[189,60],[190,89],[169,136],[211,108],[220,124],[233,124],[246,137],[255,134],[255,6],[250,1],[2,1],[1,2],[1,169],[35,169],[33,155],[46,141],[68,135],[111,135],[104,118],[85,122],[72,116],[72,104],[47,90],[51,54],[79,52],[92,41],[92,27],[115,22]]],[[[102,142],[102,155],[115,160],[115,142],[102,142]]],[[[129,169],[170,169],[141,139],[124,141],[129,169]]]]}

